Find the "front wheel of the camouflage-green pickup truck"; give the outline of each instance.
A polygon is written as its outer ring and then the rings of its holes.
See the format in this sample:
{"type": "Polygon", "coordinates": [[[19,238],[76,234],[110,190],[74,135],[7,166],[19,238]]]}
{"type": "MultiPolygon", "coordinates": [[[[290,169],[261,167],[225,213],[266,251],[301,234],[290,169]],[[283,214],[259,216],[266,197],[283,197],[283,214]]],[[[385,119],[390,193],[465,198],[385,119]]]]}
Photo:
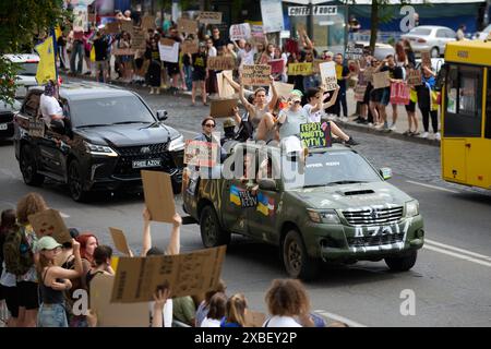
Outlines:
{"type": "Polygon", "coordinates": [[[283,261],[287,273],[291,277],[306,281],[318,277],[320,263],[308,255],[302,237],[297,230],[288,231],[285,237],[283,242],[283,261]]]}

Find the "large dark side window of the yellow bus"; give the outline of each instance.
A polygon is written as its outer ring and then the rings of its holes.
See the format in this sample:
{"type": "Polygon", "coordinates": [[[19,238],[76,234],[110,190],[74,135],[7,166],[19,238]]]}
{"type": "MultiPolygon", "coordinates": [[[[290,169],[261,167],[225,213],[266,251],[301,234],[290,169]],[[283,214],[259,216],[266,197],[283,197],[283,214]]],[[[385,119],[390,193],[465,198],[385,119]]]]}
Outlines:
{"type": "Polygon", "coordinates": [[[445,88],[445,136],[481,135],[481,68],[450,65],[445,88]]]}

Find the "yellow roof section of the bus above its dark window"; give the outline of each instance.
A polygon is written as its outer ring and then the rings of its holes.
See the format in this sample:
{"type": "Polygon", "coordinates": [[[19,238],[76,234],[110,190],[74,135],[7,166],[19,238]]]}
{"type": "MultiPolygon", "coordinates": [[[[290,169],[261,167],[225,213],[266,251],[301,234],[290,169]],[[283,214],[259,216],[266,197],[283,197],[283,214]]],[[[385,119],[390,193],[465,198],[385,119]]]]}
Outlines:
{"type": "Polygon", "coordinates": [[[491,40],[464,40],[446,44],[445,62],[491,67],[491,40]]]}

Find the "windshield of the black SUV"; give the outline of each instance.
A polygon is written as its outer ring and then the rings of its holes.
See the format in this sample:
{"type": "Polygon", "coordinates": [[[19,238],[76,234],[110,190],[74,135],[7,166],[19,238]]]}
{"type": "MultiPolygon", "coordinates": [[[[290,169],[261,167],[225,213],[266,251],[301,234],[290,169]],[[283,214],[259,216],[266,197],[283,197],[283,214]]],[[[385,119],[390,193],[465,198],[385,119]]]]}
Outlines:
{"type": "Polygon", "coordinates": [[[70,103],[70,113],[75,128],[156,121],[136,96],[73,100],[70,103]]]}

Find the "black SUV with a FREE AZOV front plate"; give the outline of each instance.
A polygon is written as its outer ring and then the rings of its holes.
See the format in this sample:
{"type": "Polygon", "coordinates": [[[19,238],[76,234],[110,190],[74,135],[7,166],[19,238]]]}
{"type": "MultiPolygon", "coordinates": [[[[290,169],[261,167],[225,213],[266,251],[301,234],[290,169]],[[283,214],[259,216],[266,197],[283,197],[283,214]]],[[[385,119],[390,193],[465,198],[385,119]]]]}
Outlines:
{"type": "Polygon", "coordinates": [[[119,87],[64,83],[63,123],[47,129],[38,112],[41,94],[40,87],[29,89],[15,117],[15,157],[26,184],[48,177],[83,201],[89,191],[141,189],[141,169],[154,169],[170,173],[175,193],[180,191],[184,142],[161,123],[165,110],[154,115],[142,97],[119,87]]]}

